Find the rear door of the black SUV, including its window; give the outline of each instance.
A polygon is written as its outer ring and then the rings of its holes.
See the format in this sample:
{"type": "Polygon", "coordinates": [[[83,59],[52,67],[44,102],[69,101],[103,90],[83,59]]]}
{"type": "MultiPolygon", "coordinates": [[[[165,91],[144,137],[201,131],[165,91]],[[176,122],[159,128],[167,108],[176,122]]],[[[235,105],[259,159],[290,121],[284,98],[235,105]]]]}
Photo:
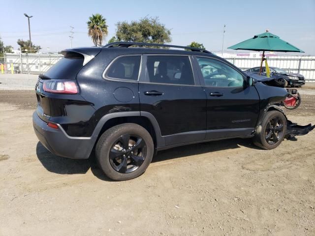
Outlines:
{"type": "Polygon", "coordinates": [[[146,55],[139,83],[140,110],[158,121],[165,145],[201,141],[207,96],[186,55],[146,55]]]}

